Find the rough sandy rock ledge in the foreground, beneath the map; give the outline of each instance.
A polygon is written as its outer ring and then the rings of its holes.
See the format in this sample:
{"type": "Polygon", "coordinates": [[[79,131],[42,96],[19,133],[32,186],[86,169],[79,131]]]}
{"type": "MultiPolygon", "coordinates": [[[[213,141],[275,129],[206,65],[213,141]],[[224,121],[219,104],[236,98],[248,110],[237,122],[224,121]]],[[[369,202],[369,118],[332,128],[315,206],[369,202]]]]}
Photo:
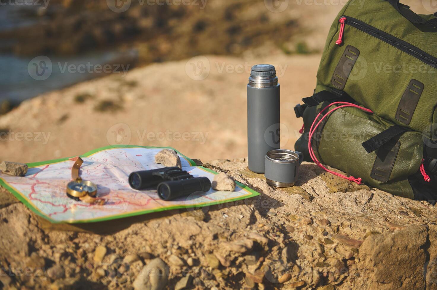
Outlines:
{"type": "Polygon", "coordinates": [[[261,194],[54,230],[1,191],[3,287],[437,289],[433,205],[352,185],[310,163],[287,189],[250,173],[244,158],[204,166],[261,194]]]}

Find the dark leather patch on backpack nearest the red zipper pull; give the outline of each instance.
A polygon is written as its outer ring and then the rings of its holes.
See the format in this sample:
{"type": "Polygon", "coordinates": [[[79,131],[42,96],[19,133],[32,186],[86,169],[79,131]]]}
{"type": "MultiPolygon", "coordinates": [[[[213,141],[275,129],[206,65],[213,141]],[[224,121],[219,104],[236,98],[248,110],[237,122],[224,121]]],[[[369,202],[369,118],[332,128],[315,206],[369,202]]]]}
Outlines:
{"type": "Polygon", "coordinates": [[[347,78],[349,78],[352,68],[360,55],[358,48],[348,45],[343,52],[343,55],[335,68],[334,75],[331,79],[331,84],[343,90],[346,85],[347,78]]]}

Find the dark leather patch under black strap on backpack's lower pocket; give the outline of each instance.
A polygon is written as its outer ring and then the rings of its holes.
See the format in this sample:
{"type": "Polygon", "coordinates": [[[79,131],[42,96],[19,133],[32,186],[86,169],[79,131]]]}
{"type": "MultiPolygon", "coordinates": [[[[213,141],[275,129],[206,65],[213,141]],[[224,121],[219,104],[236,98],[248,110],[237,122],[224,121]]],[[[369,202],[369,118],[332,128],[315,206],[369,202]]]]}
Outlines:
{"type": "Polygon", "coordinates": [[[401,143],[388,142],[376,151],[375,163],[373,164],[370,177],[375,180],[388,182],[398,156],[401,143]]]}

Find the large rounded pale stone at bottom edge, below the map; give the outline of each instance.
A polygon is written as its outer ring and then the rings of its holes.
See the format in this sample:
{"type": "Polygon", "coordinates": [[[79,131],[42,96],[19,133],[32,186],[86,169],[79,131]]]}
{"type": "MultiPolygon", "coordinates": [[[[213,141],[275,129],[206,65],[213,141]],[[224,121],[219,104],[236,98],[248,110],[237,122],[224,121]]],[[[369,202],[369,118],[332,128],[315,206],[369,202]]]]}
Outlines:
{"type": "Polygon", "coordinates": [[[170,269],[160,258],[153,259],[142,268],[132,286],[135,290],[162,290],[168,282],[170,269]]]}

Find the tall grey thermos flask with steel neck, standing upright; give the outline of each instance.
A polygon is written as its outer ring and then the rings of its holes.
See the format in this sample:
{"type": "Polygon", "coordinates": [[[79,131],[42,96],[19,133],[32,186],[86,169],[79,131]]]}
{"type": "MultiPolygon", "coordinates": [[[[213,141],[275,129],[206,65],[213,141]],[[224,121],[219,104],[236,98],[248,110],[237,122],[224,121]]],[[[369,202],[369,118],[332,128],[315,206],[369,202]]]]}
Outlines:
{"type": "Polygon", "coordinates": [[[264,173],[266,153],[280,147],[280,96],[273,65],[254,65],[247,84],[249,169],[264,173]]]}

